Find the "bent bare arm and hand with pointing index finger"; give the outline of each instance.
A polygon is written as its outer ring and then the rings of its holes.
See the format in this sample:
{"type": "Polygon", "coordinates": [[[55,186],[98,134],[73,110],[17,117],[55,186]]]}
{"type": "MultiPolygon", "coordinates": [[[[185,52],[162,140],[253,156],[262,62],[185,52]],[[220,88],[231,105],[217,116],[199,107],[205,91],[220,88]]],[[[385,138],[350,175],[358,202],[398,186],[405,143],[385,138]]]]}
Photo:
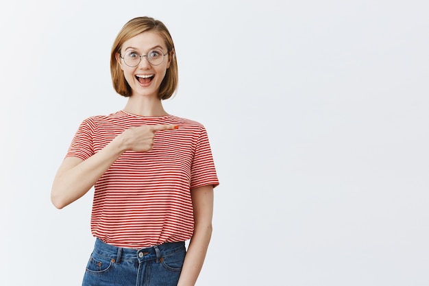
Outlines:
{"type": "Polygon", "coordinates": [[[115,137],[103,150],[90,158],[64,159],[53,180],[51,201],[64,208],[87,193],[123,152],[147,152],[154,144],[155,132],[177,128],[173,125],[139,126],[130,128],[115,137]]]}

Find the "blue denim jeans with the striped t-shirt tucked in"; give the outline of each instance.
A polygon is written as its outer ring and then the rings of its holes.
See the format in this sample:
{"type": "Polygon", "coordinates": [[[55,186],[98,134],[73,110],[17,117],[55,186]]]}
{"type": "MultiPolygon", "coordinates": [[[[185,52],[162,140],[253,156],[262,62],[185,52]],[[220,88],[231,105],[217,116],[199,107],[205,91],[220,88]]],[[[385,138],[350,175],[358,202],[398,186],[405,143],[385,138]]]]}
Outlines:
{"type": "Polygon", "coordinates": [[[185,254],[184,242],[135,250],[96,239],[82,286],[177,286],[185,254]]]}

